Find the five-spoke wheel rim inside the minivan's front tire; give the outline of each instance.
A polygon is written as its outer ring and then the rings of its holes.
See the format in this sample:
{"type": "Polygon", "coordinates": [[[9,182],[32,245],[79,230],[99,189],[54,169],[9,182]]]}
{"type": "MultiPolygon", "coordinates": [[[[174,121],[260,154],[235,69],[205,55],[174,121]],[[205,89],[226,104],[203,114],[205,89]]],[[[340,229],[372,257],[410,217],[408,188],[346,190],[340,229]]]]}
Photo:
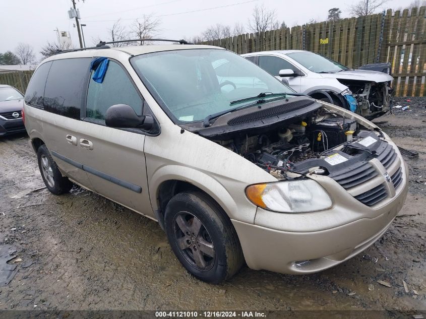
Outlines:
{"type": "Polygon", "coordinates": [[[189,264],[202,271],[213,267],[214,245],[206,227],[197,217],[189,212],[179,212],[174,217],[173,235],[189,264]]]}

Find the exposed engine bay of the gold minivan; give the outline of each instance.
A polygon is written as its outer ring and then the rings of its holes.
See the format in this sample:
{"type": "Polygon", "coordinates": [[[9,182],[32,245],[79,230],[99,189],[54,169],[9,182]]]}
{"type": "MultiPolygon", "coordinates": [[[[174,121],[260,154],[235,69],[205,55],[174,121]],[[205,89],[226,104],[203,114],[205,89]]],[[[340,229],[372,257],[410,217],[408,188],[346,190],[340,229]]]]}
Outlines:
{"type": "Polygon", "coordinates": [[[287,121],[282,127],[261,134],[252,135],[246,131],[213,141],[278,179],[291,179],[309,172],[333,174],[343,167],[360,165],[360,161],[373,158],[375,151],[369,149],[370,144],[358,143],[366,137],[373,139],[371,144],[381,143],[374,132],[360,126],[355,119],[319,108],[304,118],[287,121]]]}

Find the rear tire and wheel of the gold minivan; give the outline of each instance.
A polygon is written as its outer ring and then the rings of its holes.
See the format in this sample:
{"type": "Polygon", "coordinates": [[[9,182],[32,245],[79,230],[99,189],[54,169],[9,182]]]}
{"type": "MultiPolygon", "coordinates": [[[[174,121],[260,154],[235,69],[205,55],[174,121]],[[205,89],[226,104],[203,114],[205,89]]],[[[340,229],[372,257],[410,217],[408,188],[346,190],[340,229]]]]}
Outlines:
{"type": "Polygon", "coordinates": [[[38,148],[37,161],[41,177],[50,193],[60,195],[70,191],[73,183],[68,177],[62,176],[45,145],[38,148]]]}

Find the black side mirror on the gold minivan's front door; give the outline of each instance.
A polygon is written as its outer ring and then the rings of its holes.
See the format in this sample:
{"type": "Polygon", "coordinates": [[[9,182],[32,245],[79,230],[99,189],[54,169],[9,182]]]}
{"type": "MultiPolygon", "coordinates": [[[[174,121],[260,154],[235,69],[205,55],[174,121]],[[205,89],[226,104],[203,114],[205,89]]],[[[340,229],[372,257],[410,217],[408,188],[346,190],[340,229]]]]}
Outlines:
{"type": "Polygon", "coordinates": [[[115,104],[106,110],[105,124],[121,129],[149,130],[154,124],[154,118],[150,115],[139,116],[130,105],[115,104]]]}

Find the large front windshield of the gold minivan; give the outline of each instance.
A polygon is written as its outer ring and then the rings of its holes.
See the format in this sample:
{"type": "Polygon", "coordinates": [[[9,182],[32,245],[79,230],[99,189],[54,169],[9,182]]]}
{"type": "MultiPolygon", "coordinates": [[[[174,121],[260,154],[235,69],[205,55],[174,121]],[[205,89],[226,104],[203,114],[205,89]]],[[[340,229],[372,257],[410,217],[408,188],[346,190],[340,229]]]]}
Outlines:
{"type": "Polygon", "coordinates": [[[294,92],[253,62],[221,49],[147,53],[133,57],[131,63],[175,122],[201,121],[208,115],[256,102],[231,104],[262,92],[294,92]]]}

